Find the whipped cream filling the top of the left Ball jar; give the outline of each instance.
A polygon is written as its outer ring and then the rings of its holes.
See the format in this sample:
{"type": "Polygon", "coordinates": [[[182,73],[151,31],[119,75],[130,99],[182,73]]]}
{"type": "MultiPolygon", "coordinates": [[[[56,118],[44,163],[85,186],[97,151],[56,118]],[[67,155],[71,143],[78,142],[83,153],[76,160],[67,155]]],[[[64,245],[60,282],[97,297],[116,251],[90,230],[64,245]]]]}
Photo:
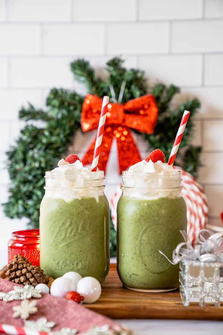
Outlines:
{"type": "Polygon", "coordinates": [[[45,174],[45,196],[65,201],[94,197],[98,201],[99,189],[104,188],[104,172],[92,172],[80,160],[70,164],[63,158],[58,167],[45,174]]]}

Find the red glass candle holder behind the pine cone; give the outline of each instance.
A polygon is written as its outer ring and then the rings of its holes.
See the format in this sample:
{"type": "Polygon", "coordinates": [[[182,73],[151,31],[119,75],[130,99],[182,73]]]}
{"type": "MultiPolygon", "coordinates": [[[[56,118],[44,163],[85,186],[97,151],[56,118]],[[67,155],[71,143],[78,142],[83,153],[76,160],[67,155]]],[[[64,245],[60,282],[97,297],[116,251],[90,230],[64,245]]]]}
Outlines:
{"type": "Polygon", "coordinates": [[[8,263],[14,255],[21,254],[32,265],[39,266],[39,229],[14,231],[8,242],[8,263]]]}

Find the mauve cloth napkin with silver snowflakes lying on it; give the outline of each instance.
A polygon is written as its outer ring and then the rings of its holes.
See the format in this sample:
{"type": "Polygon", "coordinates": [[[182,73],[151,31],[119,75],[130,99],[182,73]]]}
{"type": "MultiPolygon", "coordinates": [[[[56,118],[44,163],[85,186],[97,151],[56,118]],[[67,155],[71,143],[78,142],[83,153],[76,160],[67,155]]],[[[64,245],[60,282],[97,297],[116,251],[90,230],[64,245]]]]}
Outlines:
{"type": "MultiPolygon", "coordinates": [[[[16,284],[6,279],[0,278],[0,291],[9,292],[14,289],[16,284]]],[[[19,285],[21,286],[21,285],[19,285]]],[[[35,299],[35,298],[31,298],[35,299]]],[[[29,299],[29,301],[31,301],[29,299]]],[[[62,328],[77,329],[79,333],[96,327],[109,325],[111,329],[117,330],[117,333],[124,329],[111,319],[93,312],[84,305],[80,305],[73,300],[59,298],[47,293],[42,293],[41,298],[36,299],[38,311],[30,314],[29,321],[36,321],[39,318],[46,318],[47,321],[53,321],[55,326],[51,331],[60,331],[62,328]]],[[[13,325],[15,327],[24,328],[24,322],[21,318],[13,318],[13,306],[21,305],[21,300],[13,300],[12,302],[4,302],[0,300],[0,324],[13,325]]],[[[131,331],[128,332],[131,334],[131,331]]]]}

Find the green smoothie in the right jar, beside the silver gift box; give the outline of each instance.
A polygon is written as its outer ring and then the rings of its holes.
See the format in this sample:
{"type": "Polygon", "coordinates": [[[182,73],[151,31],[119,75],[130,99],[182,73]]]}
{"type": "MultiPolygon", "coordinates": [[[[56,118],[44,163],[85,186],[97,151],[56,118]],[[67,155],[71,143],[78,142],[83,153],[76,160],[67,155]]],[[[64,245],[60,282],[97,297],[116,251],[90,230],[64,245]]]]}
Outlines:
{"type": "Polygon", "coordinates": [[[117,271],[123,285],[139,290],[172,290],[179,286],[173,250],[187,230],[182,196],[144,200],[121,196],[117,205],[117,271]]]}

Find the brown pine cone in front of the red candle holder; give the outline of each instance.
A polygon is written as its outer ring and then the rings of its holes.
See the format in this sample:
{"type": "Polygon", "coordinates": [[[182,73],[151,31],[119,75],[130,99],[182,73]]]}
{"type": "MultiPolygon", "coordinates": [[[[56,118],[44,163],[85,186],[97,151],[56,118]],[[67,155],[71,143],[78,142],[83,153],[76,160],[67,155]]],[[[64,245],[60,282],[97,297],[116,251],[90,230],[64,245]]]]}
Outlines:
{"type": "Polygon", "coordinates": [[[43,270],[39,266],[32,265],[29,263],[28,258],[25,258],[21,254],[15,255],[11,263],[6,268],[6,279],[16,284],[32,285],[37,284],[52,284],[54,280],[51,277],[46,277],[43,270]]]}

